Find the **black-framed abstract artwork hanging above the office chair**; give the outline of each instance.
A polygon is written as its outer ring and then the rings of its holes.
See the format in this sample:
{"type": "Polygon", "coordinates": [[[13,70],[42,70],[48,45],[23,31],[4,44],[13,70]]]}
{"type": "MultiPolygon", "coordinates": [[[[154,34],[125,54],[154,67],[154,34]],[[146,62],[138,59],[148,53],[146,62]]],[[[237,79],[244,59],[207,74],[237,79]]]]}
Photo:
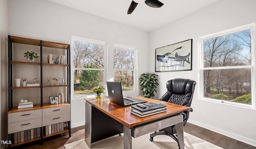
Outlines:
{"type": "Polygon", "coordinates": [[[192,70],[192,39],[156,48],[155,72],[192,70]]]}

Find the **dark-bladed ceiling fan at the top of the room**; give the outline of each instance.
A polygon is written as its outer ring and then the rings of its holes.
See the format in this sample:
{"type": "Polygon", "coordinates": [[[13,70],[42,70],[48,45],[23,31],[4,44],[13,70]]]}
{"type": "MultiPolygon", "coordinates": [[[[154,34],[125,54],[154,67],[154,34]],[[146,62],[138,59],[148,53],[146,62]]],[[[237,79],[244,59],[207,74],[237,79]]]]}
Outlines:
{"type": "Polygon", "coordinates": [[[127,14],[131,14],[133,10],[136,8],[138,3],[145,2],[148,6],[153,8],[160,8],[164,4],[158,0],[132,0],[132,3],[130,4],[130,7],[128,8],[127,14]]]}

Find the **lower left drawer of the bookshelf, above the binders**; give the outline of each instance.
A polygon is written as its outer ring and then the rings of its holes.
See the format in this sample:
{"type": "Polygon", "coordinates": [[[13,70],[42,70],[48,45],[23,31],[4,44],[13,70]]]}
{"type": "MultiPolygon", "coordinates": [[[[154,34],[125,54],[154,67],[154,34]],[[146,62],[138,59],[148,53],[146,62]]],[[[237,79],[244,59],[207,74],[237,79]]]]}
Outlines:
{"type": "Polygon", "coordinates": [[[42,118],[8,124],[8,134],[42,127],[42,118]]]}

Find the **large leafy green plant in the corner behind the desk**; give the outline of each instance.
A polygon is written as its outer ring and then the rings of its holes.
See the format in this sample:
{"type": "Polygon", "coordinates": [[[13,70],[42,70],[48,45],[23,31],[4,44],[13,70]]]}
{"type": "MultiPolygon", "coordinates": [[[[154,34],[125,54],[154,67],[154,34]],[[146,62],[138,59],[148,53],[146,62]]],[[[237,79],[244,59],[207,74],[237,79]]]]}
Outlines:
{"type": "Polygon", "coordinates": [[[144,97],[152,98],[154,97],[154,91],[156,92],[156,87],[158,87],[157,74],[142,74],[140,77],[140,85],[142,86],[142,95],[144,97]]]}

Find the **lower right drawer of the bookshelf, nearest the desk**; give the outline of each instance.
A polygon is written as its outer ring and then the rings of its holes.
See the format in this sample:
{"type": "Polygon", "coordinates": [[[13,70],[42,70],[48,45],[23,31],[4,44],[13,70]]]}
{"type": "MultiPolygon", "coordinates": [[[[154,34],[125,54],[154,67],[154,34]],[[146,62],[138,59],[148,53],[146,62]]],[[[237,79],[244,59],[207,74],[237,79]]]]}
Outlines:
{"type": "Polygon", "coordinates": [[[61,123],[64,121],[70,121],[70,113],[54,115],[54,116],[50,116],[50,117],[43,117],[43,125],[42,126],[61,123]]]}

